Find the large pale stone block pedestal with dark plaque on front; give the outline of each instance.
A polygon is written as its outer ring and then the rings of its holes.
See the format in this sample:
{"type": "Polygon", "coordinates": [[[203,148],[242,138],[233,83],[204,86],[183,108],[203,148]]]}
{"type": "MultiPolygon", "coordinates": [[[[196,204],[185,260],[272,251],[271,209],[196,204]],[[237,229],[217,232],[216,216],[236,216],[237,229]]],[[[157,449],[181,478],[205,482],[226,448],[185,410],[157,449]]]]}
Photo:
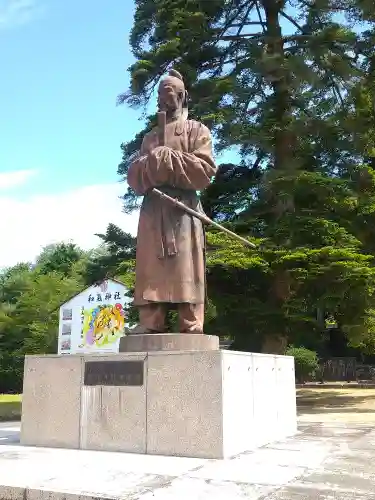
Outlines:
{"type": "Polygon", "coordinates": [[[296,429],[291,357],[211,350],[26,358],[24,445],[225,458],[296,429]]]}

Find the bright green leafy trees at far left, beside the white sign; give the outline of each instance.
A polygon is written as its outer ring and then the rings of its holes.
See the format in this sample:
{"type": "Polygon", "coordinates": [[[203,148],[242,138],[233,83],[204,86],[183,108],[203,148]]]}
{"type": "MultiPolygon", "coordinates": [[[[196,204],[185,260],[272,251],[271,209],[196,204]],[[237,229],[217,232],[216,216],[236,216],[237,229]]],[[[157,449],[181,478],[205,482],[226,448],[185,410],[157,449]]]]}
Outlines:
{"type": "Polygon", "coordinates": [[[74,245],[46,247],[35,265],[0,274],[0,393],[22,390],[25,354],[56,353],[58,308],[84,286],[88,257],[74,245]]]}

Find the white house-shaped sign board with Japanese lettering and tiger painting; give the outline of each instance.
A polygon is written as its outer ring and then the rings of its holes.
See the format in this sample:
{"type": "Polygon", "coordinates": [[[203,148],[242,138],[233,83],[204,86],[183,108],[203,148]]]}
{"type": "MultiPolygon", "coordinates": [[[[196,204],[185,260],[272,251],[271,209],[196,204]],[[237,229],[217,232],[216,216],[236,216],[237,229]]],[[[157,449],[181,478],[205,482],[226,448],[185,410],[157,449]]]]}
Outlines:
{"type": "Polygon", "coordinates": [[[125,334],[128,289],[108,279],[76,294],[60,307],[59,354],[118,352],[125,334]]]}

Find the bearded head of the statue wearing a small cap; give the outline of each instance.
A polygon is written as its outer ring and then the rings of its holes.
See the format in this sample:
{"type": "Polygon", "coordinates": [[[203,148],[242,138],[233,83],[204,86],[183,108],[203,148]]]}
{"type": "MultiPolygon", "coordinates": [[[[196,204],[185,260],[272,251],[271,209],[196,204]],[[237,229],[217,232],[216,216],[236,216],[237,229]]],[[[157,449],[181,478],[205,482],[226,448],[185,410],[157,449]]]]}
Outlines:
{"type": "Polygon", "coordinates": [[[180,73],[174,69],[159,84],[158,107],[165,111],[167,117],[180,117],[186,110],[188,94],[185,90],[184,80],[180,73]]]}

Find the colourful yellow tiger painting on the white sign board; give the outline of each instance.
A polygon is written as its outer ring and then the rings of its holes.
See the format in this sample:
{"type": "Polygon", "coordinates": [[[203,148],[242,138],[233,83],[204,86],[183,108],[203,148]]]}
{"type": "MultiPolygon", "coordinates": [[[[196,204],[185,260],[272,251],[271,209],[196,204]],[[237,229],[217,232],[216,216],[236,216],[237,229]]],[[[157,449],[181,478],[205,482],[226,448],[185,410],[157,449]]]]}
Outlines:
{"type": "Polygon", "coordinates": [[[100,304],[82,308],[82,345],[80,347],[106,347],[124,334],[125,311],[120,303],[100,304]]]}

